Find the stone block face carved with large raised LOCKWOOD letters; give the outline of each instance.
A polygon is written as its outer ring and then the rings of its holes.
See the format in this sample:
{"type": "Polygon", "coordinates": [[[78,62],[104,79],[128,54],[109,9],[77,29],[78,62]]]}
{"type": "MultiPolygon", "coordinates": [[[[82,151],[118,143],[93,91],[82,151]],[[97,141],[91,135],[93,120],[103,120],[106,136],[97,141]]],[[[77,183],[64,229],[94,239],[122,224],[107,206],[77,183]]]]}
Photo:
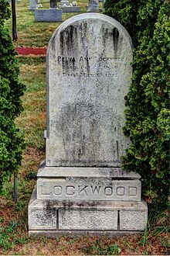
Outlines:
{"type": "Polygon", "coordinates": [[[37,199],[141,201],[139,180],[38,178],[37,199]]]}

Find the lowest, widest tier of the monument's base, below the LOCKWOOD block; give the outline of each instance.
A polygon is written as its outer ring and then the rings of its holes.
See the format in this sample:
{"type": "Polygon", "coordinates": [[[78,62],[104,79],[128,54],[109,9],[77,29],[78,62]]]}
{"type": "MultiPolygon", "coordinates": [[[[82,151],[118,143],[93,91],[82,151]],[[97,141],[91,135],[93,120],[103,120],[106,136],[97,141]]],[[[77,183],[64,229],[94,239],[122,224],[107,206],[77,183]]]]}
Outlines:
{"type": "Polygon", "coordinates": [[[34,189],[29,234],[129,234],[145,230],[147,216],[145,202],[40,200],[34,189]]]}

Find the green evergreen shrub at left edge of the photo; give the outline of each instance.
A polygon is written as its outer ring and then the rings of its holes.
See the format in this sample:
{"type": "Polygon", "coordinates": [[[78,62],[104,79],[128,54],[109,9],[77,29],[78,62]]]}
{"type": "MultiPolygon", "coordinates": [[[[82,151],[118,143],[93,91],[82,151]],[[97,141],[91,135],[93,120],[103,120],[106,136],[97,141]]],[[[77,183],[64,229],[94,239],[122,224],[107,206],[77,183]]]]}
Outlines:
{"type": "Polygon", "coordinates": [[[0,191],[4,180],[18,170],[24,147],[14,120],[22,111],[25,86],[19,82],[14,46],[4,26],[9,14],[8,2],[0,0],[0,191]]]}

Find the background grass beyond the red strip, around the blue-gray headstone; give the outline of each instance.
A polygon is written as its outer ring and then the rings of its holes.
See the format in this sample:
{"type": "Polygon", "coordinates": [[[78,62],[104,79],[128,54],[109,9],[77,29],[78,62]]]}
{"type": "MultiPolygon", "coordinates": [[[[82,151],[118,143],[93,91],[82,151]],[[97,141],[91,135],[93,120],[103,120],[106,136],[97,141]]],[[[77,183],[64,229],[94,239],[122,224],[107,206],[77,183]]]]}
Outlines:
{"type": "MultiPolygon", "coordinates": [[[[49,9],[49,1],[41,1],[43,8],[49,9]]],[[[87,11],[87,0],[77,2],[81,8],[81,12],[63,13],[63,21],[69,19],[73,15],[87,11]]],[[[28,10],[29,1],[22,0],[16,3],[17,8],[17,30],[19,40],[15,43],[18,47],[46,47],[49,39],[61,22],[35,22],[34,12],[28,10]]],[[[102,4],[100,3],[100,7],[102,4]]],[[[12,22],[6,22],[8,29],[12,32],[12,22]]]]}

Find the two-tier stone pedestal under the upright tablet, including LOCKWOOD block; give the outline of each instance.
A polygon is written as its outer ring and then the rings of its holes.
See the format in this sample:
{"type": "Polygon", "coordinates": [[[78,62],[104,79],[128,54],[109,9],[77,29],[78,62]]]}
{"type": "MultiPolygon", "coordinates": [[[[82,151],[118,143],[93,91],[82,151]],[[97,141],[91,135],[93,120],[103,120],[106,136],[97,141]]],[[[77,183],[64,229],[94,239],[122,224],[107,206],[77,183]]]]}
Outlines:
{"type": "Polygon", "coordinates": [[[29,202],[29,235],[109,236],[145,230],[140,175],[121,168],[55,168],[42,162],[29,202]],[[42,231],[43,230],[43,231],[42,231]]]}

